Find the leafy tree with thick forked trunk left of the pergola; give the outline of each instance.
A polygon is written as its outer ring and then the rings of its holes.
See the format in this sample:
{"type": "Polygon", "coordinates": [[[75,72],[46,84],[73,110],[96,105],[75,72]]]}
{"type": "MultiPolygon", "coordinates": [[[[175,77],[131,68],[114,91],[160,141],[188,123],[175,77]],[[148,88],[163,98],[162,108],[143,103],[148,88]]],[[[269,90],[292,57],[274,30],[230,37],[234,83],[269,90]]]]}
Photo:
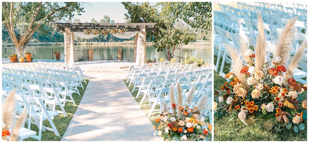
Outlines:
{"type": "Polygon", "coordinates": [[[71,18],[74,11],[81,15],[82,5],[82,2],[2,2],[2,23],[15,45],[17,56],[23,56],[23,50],[37,30],[49,32],[41,25],[52,25],[63,17],[71,18]]]}

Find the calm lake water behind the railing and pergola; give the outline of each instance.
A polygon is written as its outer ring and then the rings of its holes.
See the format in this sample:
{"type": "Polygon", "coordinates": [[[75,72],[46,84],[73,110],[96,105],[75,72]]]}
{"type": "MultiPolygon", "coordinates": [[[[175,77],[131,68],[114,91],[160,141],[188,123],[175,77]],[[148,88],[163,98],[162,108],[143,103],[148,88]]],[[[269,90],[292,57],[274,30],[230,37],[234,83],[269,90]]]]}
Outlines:
{"type": "MultiPolygon", "coordinates": [[[[2,48],[14,48],[13,46],[10,47],[2,47],[2,48]]],[[[40,46],[27,46],[27,49],[32,48],[64,48],[61,45],[40,45],[40,46]]],[[[113,44],[113,45],[74,45],[75,50],[87,50],[88,48],[92,49],[117,49],[117,48],[124,48],[128,50],[134,50],[133,44],[113,44]]],[[[2,51],[3,52],[3,51],[2,51]]],[[[176,61],[179,60],[177,56],[184,56],[185,53],[188,53],[188,56],[194,56],[196,58],[204,59],[209,63],[212,63],[211,60],[211,45],[184,45],[181,49],[176,49],[175,51],[175,58],[176,61]]],[[[146,45],[146,59],[154,59],[157,60],[159,58],[165,58],[164,52],[157,52],[157,50],[152,45],[146,45]]]]}

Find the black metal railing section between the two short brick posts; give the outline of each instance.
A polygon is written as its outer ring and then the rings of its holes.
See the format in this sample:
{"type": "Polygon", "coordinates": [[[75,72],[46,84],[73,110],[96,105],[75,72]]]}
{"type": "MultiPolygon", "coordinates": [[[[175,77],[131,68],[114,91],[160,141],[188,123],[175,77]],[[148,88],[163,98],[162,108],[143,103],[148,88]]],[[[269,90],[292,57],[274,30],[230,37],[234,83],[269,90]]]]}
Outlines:
{"type": "Polygon", "coordinates": [[[117,50],[93,50],[93,60],[117,60],[117,50]]]}

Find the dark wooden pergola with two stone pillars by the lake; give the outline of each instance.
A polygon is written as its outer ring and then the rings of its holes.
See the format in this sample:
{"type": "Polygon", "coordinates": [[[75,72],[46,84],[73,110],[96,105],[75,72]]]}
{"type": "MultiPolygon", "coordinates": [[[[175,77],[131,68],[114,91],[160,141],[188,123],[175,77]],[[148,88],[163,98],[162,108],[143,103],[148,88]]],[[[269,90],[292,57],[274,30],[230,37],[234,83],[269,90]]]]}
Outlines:
{"type": "Polygon", "coordinates": [[[55,30],[64,32],[65,63],[72,64],[74,52],[74,32],[83,32],[87,28],[125,28],[128,32],[138,31],[134,36],[134,61],[139,59],[139,64],[146,63],[146,33],[155,32],[157,23],[56,23],[55,30]],[[72,41],[73,46],[70,41],[72,41]],[[136,54],[139,48],[139,54],[136,54]],[[72,57],[71,57],[72,56],[72,57]],[[71,58],[70,58],[71,57],[71,58]]]}

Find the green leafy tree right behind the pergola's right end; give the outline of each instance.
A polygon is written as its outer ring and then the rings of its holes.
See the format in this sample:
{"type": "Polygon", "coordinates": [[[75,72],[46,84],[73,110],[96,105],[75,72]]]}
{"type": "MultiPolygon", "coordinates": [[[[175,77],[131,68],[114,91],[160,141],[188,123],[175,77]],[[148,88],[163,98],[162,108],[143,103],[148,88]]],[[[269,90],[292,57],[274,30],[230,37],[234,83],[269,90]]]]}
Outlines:
{"type": "Polygon", "coordinates": [[[167,60],[174,58],[176,49],[182,48],[195,39],[195,35],[189,30],[176,29],[176,18],[168,13],[159,13],[158,5],[151,6],[148,2],[133,3],[121,2],[128,13],[125,14],[128,22],[155,22],[158,30],[155,33],[147,33],[147,39],[154,40],[154,47],[158,52],[165,52],[167,60]]]}

